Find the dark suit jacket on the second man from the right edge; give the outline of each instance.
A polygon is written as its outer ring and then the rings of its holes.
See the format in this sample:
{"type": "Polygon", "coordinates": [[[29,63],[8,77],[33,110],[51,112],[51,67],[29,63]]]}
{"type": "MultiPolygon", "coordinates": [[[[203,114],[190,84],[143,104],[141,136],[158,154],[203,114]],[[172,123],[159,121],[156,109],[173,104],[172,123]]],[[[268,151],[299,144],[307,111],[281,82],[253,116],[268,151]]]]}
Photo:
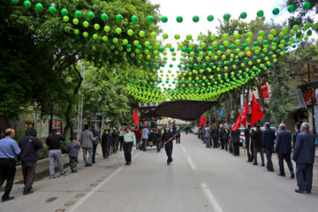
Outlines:
{"type": "Polygon", "coordinates": [[[277,133],[275,151],[278,154],[291,154],[292,153],[292,133],[283,130],[277,133]]]}

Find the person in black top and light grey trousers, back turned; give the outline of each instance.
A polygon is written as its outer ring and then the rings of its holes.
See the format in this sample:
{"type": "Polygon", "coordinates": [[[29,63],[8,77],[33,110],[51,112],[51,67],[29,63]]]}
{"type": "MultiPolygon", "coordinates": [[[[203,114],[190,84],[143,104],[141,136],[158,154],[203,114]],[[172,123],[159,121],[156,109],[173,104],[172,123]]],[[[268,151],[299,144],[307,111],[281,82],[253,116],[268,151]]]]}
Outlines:
{"type": "Polygon", "coordinates": [[[46,140],[46,144],[49,146],[49,177],[50,179],[55,179],[54,165],[57,161],[58,169],[60,171],[60,176],[66,176],[66,171],[63,168],[62,161],[62,151],[61,151],[61,141],[64,141],[64,137],[57,134],[57,130],[52,130],[52,133],[46,140]]]}

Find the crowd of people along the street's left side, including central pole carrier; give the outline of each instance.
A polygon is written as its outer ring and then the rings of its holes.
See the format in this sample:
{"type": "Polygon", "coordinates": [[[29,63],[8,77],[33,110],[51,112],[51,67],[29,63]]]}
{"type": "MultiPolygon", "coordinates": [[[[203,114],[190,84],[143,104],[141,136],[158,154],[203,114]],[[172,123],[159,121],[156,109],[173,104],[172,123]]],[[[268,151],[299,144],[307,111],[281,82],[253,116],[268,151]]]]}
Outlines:
{"type": "MultiPolygon", "coordinates": [[[[157,127],[155,132],[149,131],[147,126],[139,129],[122,127],[119,132],[116,128],[113,128],[113,130],[108,128],[104,130],[101,138],[96,127],[91,130],[88,125],[85,125],[84,130],[80,133],[79,142],[75,137],[71,136],[70,142],[67,144],[65,150],[69,155],[72,173],[77,172],[76,167],[79,161],[79,148],[82,148],[83,162],[86,167],[96,163],[96,149],[101,139],[103,159],[108,159],[110,155],[117,154],[118,151],[124,150],[125,165],[131,165],[133,146],[137,149],[146,151],[150,133],[155,133],[155,138],[152,138],[151,140],[155,142],[158,152],[160,152],[163,147],[165,148],[168,157],[167,164],[169,165],[172,162],[173,143],[171,140],[176,138],[177,143],[180,143],[179,132],[180,128],[173,126],[171,131],[169,125],[166,125],[164,128],[157,127]],[[164,143],[166,144],[164,145],[164,143]]],[[[43,148],[42,141],[39,140],[36,135],[37,132],[34,127],[27,127],[26,135],[17,142],[14,140],[14,129],[8,128],[1,133],[0,186],[4,184],[5,180],[7,182],[4,188],[2,201],[14,199],[13,196],[10,196],[10,193],[16,173],[16,157],[18,158],[19,163],[21,163],[24,178],[25,187],[23,194],[27,195],[34,193],[32,186],[35,177],[37,152],[39,149],[43,148]]],[[[49,178],[52,180],[56,178],[56,162],[60,177],[67,175],[67,172],[64,170],[61,150],[61,144],[64,140],[64,136],[57,133],[56,129],[53,129],[45,142],[49,147],[49,178]]]]}

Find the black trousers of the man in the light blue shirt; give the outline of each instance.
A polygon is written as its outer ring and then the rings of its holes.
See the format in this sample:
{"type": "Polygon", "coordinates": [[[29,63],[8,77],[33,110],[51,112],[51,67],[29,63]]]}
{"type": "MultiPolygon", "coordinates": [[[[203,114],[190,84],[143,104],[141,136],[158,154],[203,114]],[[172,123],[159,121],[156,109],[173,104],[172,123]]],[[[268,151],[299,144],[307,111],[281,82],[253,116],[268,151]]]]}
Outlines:
{"type": "Polygon", "coordinates": [[[3,200],[9,198],[11,189],[14,182],[16,167],[14,159],[0,159],[0,187],[3,186],[4,181],[7,180],[7,184],[4,187],[3,200]]]}

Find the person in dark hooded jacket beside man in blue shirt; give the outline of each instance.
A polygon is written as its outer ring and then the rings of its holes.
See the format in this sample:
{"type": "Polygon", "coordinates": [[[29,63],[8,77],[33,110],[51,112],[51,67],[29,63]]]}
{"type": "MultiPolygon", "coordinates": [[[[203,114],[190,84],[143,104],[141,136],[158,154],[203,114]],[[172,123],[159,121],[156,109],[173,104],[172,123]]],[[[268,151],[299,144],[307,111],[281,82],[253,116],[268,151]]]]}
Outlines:
{"type": "Polygon", "coordinates": [[[36,138],[34,127],[27,127],[26,135],[19,140],[21,153],[19,160],[22,163],[22,174],[24,179],[23,195],[34,193],[32,185],[35,177],[37,151],[43,148],[42,142],[36,138]]]}

